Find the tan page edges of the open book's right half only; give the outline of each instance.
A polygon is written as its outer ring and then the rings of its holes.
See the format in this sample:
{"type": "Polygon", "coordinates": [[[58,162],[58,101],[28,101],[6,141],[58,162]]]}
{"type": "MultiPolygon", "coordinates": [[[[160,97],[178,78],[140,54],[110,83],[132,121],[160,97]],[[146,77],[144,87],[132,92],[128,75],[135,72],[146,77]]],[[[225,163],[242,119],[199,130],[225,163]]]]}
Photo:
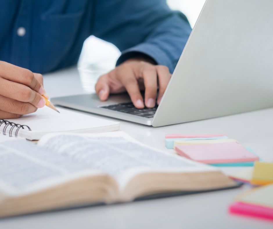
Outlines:
{"type": "Polygon", "coordinates": [[[127,183],[122,201],[132,201],[138,197],[157,193],[209,191],[236,185],[234,180],[221,171],[142,173],[134,176],[127,183]]]}

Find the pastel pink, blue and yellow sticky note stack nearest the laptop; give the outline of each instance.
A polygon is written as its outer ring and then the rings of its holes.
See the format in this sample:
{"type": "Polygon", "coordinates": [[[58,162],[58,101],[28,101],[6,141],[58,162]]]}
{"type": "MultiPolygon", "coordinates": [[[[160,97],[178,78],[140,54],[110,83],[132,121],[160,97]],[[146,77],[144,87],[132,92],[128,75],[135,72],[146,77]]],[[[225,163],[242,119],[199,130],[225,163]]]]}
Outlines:
{"type": "Polygon", "coordinates": [[[177,154],[214,166],[253,166],[259,157],[226,135],[165,135],[165,146],[177,154]]]}

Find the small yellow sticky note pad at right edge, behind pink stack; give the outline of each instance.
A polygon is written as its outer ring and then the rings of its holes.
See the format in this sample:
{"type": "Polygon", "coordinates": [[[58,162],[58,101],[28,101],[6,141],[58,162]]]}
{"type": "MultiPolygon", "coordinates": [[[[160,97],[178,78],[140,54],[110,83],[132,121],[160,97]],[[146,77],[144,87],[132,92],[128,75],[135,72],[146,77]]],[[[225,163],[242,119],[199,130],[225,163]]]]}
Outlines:
{"type": "Polygon", "coordinates": [[[273,163],[255,162],[250,182],[254,185],[267,185],[273,183],[273,163]]]}

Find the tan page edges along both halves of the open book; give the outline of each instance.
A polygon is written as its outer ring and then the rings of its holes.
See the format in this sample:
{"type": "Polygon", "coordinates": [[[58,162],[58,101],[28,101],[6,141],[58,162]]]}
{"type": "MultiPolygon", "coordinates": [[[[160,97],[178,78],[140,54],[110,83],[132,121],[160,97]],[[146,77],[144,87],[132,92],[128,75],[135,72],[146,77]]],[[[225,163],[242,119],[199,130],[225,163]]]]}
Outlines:
{"type": "Polygon", "coordinates": [[[78,178],[36,193],[7,196],[0,192],[0,217],[29,214],[95,203],[133,201],[157,193],[206,191],[236,186],[221,171],[141,173],[119,193],[114,178],[107,175],[78,178]],[[152,182],[151,182],[152,181],[152,182]]]}

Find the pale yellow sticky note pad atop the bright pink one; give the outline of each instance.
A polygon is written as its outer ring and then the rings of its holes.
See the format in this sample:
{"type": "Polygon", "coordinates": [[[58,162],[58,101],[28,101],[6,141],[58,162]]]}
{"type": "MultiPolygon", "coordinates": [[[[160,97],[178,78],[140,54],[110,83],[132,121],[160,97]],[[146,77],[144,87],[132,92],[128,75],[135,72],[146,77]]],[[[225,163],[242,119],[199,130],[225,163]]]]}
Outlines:
{"type": "Polygon", "coordinates": [[[273,184],[254,188],[239,195],[236,201],[271,207],[273,209],[273,184]]]}

